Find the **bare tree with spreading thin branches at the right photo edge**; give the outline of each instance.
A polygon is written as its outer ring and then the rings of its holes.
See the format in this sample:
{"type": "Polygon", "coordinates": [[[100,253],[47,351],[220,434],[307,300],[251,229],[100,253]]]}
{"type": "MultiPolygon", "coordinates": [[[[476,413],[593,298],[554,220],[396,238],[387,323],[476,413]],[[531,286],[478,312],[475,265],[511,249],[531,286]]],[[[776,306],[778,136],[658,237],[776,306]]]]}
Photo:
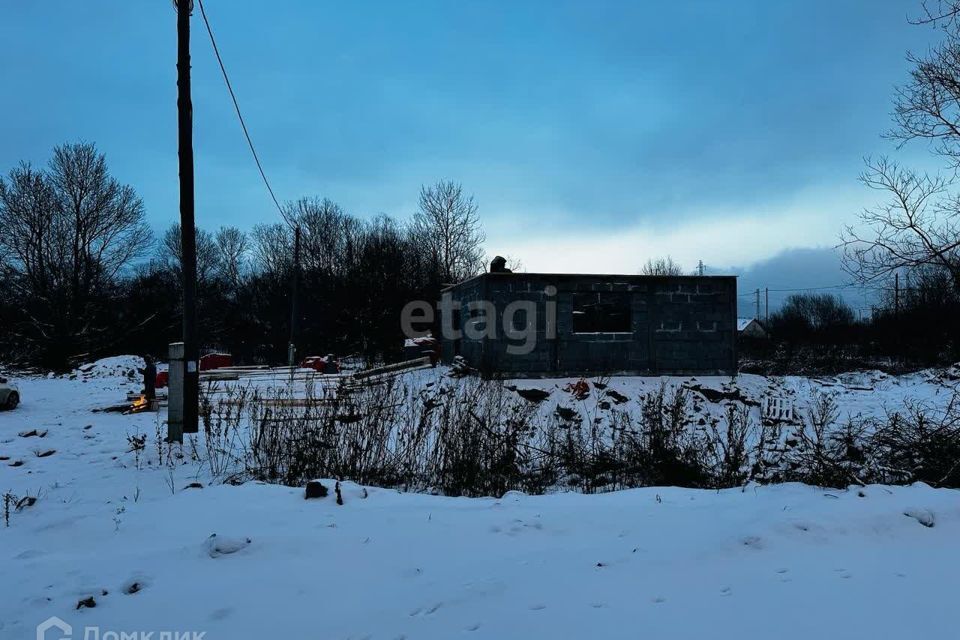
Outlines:
{"type": "Polygon", "coordinates": [[[844,269],[861,283],[897,272],[940,270],[960,291],[960,0],[930,0],[914,24],[933,25],[942,41],[923,55],[908,54],[910,79],[894,95],[894,128],[903,146],[925,140],[951,177],[905,168],[888,158],[866,161],[861,181],[885,195],[841,234],[844,269]]]}

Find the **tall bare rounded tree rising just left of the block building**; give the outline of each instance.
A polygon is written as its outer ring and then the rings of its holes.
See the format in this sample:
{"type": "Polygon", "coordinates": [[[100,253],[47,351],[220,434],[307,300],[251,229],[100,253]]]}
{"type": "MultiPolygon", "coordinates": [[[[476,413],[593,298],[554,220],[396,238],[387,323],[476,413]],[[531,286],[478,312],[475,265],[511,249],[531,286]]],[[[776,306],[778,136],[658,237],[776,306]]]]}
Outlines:
{"type": "Polygon", "coordinates": [[[412,233],[434,261],[441,281],[459,282],[484,270],[486,236],[473,196],[464,195],[461,185],[441,180],[422,187],[412,233]]]}

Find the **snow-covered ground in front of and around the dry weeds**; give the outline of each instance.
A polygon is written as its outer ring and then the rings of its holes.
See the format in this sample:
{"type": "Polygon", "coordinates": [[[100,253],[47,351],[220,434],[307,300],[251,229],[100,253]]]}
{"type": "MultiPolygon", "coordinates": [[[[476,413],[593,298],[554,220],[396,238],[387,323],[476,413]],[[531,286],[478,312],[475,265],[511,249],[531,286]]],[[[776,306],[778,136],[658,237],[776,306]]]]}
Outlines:
{"type": "MultiPolygon", "coordinates": [[[[211,485],[189,448],[172,472],[148,464],[162,415],[92,412],[139,389],[123,364],[18,380],[21,407],[0,413],[0,491],[36,498],[0,523],[4,640],[36,637],[50,616],[78,639],[92,627],[207,640],[956,637],[958,491],[465,499],[345,484],[338,505],[325,481],[331,495],[307,501],[302,488],[211,485]]],[[[610,381],[631,395],[659,384],[610,381]]],[[[845,415],[872,415],[935,404],[951,384],[865,373],[737,388],[829,390],[845,415]]]]}

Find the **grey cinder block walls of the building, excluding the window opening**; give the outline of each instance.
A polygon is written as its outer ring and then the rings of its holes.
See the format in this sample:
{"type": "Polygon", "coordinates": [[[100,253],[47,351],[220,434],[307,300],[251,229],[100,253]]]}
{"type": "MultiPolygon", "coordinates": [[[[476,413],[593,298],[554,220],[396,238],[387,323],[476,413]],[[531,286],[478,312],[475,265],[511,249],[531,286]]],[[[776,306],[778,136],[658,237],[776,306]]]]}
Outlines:
{"type": "MultiPolygon", "coordinates": [[[[737,370],[736,299],[733,276],[608,276],[488,273],[449,290],[463,306],[461,329],[493,321],[495,337],[454,345],[443,340],[449,361],[459,351],[486,375],[571,376],[580,374],[724,374],[737,370]],[[552,287],[553,289],[548,289],[552,287]],[[574,296],[585,292],[625,295],[630,306],[629,333],[575,333],[574,296]],[[552,293],[552,295],[551,295],[552,293]],[[471,318],[466,305],[489,300],[492,318],[471,318]],[[530,353],[503,330],[503,311],[514,300],[536,305],[536,340],[530,353]],[[555,304],[555,337],[548,335],[548,304],[555,304]]],[[[482,327],[481,327],[482,328],[482,327]]]]}

